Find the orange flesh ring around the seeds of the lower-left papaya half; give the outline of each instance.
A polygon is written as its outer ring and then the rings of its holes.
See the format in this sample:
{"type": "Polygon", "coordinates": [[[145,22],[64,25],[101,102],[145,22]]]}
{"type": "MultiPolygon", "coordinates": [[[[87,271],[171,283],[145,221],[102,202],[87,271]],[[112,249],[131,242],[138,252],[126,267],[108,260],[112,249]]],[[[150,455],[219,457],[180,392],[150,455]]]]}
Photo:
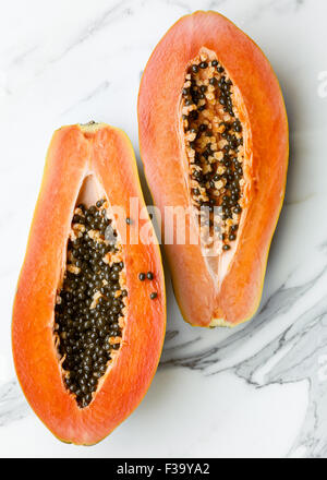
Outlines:
{"type": "Polygon", "coordinates": [[[14,364],[27,401],[59,440],[78,445],[101,441],[142,401],[159,362],[166,328],[159,248],[128,242],[123,250],[130,303],[122,346],[93,401],[83,409],[77,406],[63,384],[52,331],[71,218],[89,172],[100,180],[111,204],[128,212],[130,196],[137,196],[140,208],[145,205],[133,147],[124,132],[104,123],[59,129],[48,149],[12,323],[14,364]],[[142,285],[137,273],[145,267],[155,278],[142,285]],[[156,301],[149,299],[153,290],[158,292],[156,301]]]}

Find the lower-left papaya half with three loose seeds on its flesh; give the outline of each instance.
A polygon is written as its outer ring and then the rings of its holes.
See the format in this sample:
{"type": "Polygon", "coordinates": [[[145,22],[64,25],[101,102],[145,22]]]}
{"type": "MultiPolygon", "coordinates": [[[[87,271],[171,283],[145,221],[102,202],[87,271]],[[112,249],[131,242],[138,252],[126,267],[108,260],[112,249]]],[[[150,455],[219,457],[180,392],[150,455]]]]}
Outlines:
{"type": "Polygon", "coordinates": [[[28,403],[64,442],[99,442],[155,374],[166,299],[153,239],[128,136],[94,122],[58,130],[19,279],[12,344],[28,403]]]}

